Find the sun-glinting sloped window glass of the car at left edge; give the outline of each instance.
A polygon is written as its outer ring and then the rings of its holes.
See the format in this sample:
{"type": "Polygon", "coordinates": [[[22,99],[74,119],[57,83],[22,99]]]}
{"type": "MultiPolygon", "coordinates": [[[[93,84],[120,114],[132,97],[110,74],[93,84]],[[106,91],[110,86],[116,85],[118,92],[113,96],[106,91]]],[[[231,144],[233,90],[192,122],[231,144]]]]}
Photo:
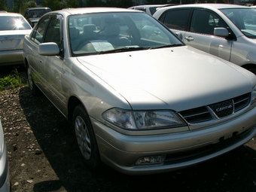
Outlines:
{"type": "Polygon", "coordinates": [[[0,23],[0,31],[31,29],[23,17],[1,16],[0,23]]]}

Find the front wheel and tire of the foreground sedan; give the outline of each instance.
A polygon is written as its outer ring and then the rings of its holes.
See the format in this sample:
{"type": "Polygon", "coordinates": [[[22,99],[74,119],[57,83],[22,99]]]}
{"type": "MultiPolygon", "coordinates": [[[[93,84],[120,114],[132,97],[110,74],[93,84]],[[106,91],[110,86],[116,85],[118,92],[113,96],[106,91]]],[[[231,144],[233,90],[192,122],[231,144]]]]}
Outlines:
{"type": "Polygon", "coordinates": [[[100,160],[93,126],[90,123],[89,116],[85,111],[84,106],[81,104],[74,110],[72,129],[74,130],[75,139],[84,164],[90,169],[99,169],[99,167],[102,166],[102,162],[100,160]]]}

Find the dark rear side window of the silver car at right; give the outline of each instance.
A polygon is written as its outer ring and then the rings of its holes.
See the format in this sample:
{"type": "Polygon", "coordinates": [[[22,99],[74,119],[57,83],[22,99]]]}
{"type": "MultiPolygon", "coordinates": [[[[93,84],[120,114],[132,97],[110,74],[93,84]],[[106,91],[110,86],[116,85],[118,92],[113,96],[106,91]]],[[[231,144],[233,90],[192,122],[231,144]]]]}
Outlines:
{"type": "Polygon", "coordinates": [[[189,14],[190,9],[170,10],[163,19],[160,18],[160,21],[169,29],[186,30],[189,14]]]}

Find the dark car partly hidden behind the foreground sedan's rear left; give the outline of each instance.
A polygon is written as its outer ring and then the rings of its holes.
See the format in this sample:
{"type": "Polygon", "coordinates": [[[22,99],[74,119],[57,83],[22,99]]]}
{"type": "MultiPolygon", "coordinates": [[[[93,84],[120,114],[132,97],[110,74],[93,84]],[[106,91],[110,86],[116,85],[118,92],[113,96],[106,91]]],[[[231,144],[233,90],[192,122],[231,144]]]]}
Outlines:
{"type": "Polygon", "coordinates": [[[27,8],[24,17],[28,20],[29,24],[34,27],[40,17],[50,11],[50,8],[27,8]]]}

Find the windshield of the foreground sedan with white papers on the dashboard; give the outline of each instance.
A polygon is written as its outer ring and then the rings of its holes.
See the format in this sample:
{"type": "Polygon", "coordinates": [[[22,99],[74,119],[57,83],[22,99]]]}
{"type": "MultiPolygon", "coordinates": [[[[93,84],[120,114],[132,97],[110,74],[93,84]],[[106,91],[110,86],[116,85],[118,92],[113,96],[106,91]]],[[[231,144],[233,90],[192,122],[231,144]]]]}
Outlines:
{"type": "Polygon", "coordinates": [[[72,56],[184,45],[145,13],[79,14],[68,20],[72,56]]]}

